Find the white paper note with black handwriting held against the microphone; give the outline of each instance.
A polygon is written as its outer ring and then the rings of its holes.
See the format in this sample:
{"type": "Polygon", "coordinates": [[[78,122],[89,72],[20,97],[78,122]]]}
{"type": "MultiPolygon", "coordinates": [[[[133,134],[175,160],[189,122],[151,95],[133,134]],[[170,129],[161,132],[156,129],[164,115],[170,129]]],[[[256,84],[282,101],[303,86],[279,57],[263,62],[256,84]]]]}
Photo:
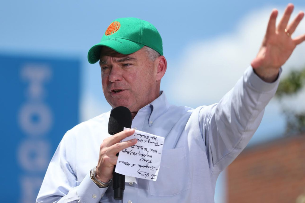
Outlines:
{"type": "MultiPolygon", "coordinates": [[[[127,128],[124,128],[126,130],[127,128]]],[[[120,151],[115,172],[156,181],[160,168],[164,137],[135,130],[122,141],[137,138],[138,142],[120,151]]]]}

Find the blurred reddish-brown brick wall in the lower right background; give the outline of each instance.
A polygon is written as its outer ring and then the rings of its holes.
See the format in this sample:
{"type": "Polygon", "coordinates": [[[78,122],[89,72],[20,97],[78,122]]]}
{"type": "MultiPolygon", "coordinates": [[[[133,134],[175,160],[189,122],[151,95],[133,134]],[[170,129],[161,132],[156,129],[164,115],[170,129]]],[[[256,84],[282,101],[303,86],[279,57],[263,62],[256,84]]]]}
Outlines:
{"type": "Polygon", "coordinates": [[[229,203],[305,203],[305,134],[244,150],[227,186],[229,203]]]}

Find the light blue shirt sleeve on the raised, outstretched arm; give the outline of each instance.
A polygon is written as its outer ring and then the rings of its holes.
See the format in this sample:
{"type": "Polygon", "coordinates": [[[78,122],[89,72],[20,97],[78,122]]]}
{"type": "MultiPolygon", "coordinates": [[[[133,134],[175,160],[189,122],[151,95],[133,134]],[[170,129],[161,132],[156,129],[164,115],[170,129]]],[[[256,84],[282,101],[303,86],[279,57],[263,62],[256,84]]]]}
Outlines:
{"type": "Polygon", "coordinates": [[[211,173],[224,170],[246,147],[278,83],[279,79],[264,82],[250,66],[218,104],[200,110],[199,122],[211,173]]]}

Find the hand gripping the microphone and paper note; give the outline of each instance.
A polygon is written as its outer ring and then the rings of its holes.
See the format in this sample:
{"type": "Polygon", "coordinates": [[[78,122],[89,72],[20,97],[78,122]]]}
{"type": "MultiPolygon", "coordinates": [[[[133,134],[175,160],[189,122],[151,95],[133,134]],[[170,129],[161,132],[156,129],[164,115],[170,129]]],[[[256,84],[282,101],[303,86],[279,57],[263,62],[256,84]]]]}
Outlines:
{"type": "Polygon", "coordinates": [[[137,139],[120,142],[135,133],[135,129],[124,130],[104,139],[99,150],[99,161],[96,167],[96,178],[107,183],[112,178],[114,165],[117,164],[116,154],[137,143],[137,139]]]}

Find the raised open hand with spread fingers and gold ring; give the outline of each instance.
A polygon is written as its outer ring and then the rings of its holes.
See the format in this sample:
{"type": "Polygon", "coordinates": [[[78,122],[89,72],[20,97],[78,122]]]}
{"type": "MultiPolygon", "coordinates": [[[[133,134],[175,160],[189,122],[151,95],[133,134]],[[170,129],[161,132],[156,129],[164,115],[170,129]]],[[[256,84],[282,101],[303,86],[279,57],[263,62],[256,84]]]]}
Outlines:
{"type": "Polygon", "coordinates": [[[266,82],[276,80],[280,67],[287,61],[296,45],[305,40],[305,34],[291,38],[291,35],[304,17],[304,12],[299,12],[296,18],[288,25],[293,7],[293,4],[287,5],[277,27],[275,22],[278,11],[276,9],[272,10],[263,43],[256,58],[251,62],[254,72],[266,82]]]}

